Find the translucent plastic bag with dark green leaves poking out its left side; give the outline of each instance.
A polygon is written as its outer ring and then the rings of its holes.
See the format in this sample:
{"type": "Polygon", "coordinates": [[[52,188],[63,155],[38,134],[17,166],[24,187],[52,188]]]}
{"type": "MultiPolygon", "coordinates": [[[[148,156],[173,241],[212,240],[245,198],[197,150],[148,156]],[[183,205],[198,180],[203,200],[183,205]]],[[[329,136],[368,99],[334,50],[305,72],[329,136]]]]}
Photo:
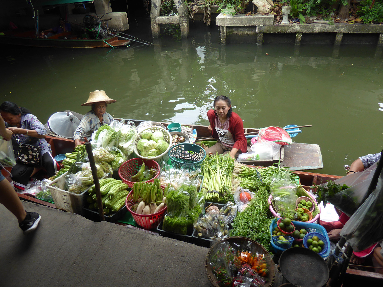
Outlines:
{"type": "MultiPolygon", "coordinates": [[[[340,185],[346,184],[347,186],[350,186],[350,188],[337,192],[333,197],[327,199],[328,202],[344,212],[347,216],[351,217],[365,200],[368,186],[370,186],[375,170],[376,163],[365,171],[334,180],[334,183],[340,185]]],[[[323,185],[327,186],[327,184],[328,183],[325,183],[323,185]]]]}

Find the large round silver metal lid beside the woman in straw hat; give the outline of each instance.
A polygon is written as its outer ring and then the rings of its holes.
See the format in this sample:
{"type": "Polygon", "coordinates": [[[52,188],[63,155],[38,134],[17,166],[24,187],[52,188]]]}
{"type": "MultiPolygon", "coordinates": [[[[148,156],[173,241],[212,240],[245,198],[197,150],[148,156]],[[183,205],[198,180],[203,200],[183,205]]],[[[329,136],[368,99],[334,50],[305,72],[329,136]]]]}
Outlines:
{"type": "Polygon", "coordinates": [[[55,134],[73,139],[73,133],[80,124],[80,120],[72,113],[58,112],[52,114],[48,120],[49,129],[55,134]]]}

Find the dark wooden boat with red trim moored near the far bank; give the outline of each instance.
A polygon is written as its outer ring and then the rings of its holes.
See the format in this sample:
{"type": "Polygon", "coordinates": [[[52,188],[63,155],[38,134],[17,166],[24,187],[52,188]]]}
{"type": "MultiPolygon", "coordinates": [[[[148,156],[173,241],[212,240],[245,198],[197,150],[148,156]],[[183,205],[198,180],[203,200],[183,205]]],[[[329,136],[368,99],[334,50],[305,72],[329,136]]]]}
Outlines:
{"type": "MultiPolygon", "coordinates": [[[[11,44],[32,47],[50,48],[97,48],[126,46],[131,41],[119,40],[117,36],[109,36],[103,39],[79,39],[72,32],[67,31],[53,35],[49,38],[36,38],[34,30],[22,31],[13,29],[0,35],[0,44],[11,44]]],[[[116,33],[118,35],[118,33],[116,33]]]]}

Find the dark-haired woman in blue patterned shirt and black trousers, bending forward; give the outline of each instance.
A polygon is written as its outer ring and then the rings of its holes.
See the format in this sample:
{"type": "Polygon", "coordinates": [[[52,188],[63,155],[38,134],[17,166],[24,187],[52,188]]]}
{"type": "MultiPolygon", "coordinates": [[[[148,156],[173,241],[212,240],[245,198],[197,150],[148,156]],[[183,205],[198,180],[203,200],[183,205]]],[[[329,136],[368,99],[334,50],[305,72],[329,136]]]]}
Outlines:
{"type": "Polygon", "coordinates": [[[28,109],[20,108],[12,102],[5,101],[2,103],[0,113],[6,122],[5,126],[12,132],[12,145],[15,156],[17,156],[19,150],[19,142],[41,147],[39,154],[41,163],[39,165],[29,165],[18,161],[13,166],[11,171],[13,185],[24,190],[29,178],[38,172],[41,167],[45,168],[48,176],[53,176],[59,169],[59,165],[52,157],[51,145],[44,139],[47,134],[44,125],[28,109]]]}

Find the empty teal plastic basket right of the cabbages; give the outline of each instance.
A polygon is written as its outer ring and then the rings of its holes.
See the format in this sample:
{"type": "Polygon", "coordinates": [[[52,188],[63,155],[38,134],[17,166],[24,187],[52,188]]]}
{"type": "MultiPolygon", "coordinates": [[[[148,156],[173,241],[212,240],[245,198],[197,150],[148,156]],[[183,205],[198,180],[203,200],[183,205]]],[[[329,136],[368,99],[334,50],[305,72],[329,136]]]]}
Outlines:
{"type": "Polygon", "coordinates": [[[201,167],[201,163],[206,157],[206,152],[194,143],[179,143],[170,148],[168,155],[173,168],[193,171],[201,167]]]}

